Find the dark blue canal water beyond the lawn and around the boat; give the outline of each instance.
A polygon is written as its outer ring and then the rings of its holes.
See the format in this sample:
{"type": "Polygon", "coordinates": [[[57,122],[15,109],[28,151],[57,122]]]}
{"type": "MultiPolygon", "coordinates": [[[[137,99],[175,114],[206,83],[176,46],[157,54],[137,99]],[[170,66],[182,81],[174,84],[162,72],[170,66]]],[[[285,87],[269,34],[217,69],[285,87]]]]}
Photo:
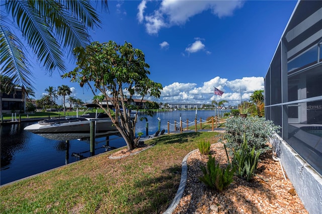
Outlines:
{"type": "MultiPolygon", "coordinates": [[[[214,111],[197,111],[197,120],[206,120],[207,117],[213,116],[214,111]]],[[[158,121],[160,120],[160,130],[165,129],[168,132],[168,121],[174,124],[180,121],[194,121],[196,111],[173,111],[164,113],[155,113],[154,116],[147,117],[148,122],[138,121],[136,124],[136,134],[143,132],[146,135],[146,123],[148,123],[148,135],[154,134],[158,130],[158,121]],[[159,120],[158,120],[159,119],[159,120]]],[[[44,172],[68,163],[80,160],[73,154],[82,157],[90,157],[89,141],[69,141],[67,146],[65,141],[55,141],[43,138],[31,132],[24,131],[26,126],[36,122],[23,122],[21,124],[4,124],[1,125],[1,171],[0,184],[6,184],[30,175],[44,172]]],[[[179,127],[179,125],[177,125],[179,127]]],[[[185,128],[186,125],[183,125],[185,128]]],[[[170,126],[170,132],[173,132],[174,126],[170,126]]],[[[96,139],[95,154],[106,152],[105,138],[96,139]]],[[[111,147],[126,146],[125,141],[118,136],[110,137],[111,147]]]]}

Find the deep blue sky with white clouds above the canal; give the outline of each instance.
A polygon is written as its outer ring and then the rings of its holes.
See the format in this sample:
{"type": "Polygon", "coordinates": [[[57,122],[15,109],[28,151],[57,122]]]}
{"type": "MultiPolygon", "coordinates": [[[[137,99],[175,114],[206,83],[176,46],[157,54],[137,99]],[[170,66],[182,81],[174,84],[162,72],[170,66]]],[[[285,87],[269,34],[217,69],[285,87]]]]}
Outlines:
{"type": "MultiPolygon", "coordinates": [[[[230,105],[264,89],[280,37],[297,1],[109,1],[102,28],[92,41],[124,41],[141,49],[150,65],[149,78],[162,83],[163,103],[211,103],[214,86],[224,91],[216,100],[230,105]]],[[[72,96],[90,102],[93,94],[58,72],[49,75],[35,63],[36,98],[48,86],[66,84],[72,96]]],[[[68,69],[75,67],[69,62],[68,69]]],[[[59,102],[58,102],[59,104],[59,102]]]]}

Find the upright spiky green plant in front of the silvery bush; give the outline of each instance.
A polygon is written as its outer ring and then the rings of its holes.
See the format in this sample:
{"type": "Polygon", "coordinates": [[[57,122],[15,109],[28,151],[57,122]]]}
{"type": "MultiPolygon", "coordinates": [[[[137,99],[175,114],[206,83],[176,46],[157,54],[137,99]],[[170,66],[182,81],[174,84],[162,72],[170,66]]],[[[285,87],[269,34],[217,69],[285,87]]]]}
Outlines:
{"type": "Polygon", "coordinates": [[[244,134],[243,146],[237,151],[233,151],[232,165],[236,168],[237,176],[246,178],[247,182],[250,182],[257,169],[260,154],[259,151],[255,152],[255,146],[253,149],[248,146],[244,134]]]}

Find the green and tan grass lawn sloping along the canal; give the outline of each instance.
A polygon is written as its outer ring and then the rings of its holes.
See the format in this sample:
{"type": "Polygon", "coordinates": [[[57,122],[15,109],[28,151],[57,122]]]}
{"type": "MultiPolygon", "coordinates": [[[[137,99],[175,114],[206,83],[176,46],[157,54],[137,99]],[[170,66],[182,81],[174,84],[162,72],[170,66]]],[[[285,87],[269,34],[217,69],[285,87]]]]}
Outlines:
{"type": "Polygon", "coordinates": [[[164,135],[150,149],[122,159],[114,152],[69,164],[0,188],[1,213],[160,213],[178,190],[183,158],[219,133],[164,135]]]}

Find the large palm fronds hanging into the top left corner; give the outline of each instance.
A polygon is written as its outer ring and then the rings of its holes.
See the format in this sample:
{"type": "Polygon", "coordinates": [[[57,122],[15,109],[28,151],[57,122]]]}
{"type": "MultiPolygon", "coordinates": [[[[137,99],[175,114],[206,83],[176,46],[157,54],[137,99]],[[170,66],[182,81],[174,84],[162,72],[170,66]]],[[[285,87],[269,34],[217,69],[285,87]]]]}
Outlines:
{"type": "MultiPolygon", "coordinates": [[[[50,73],[65,70],[64,53],[74,57],[75,47],[90,44],[90,32],[101,24],[94,9],[96,1],[2,1],[0,61],[3,75],[13,78],[15,85],[33,88],[33,73],[25,54],[25,45],[34,51],[39,62],[50,73]],[[14,31],[21,32],[27,42],[22,42],[14,31]]],[[[108,11],[107,1],[102,10],[108,11]]]]}

